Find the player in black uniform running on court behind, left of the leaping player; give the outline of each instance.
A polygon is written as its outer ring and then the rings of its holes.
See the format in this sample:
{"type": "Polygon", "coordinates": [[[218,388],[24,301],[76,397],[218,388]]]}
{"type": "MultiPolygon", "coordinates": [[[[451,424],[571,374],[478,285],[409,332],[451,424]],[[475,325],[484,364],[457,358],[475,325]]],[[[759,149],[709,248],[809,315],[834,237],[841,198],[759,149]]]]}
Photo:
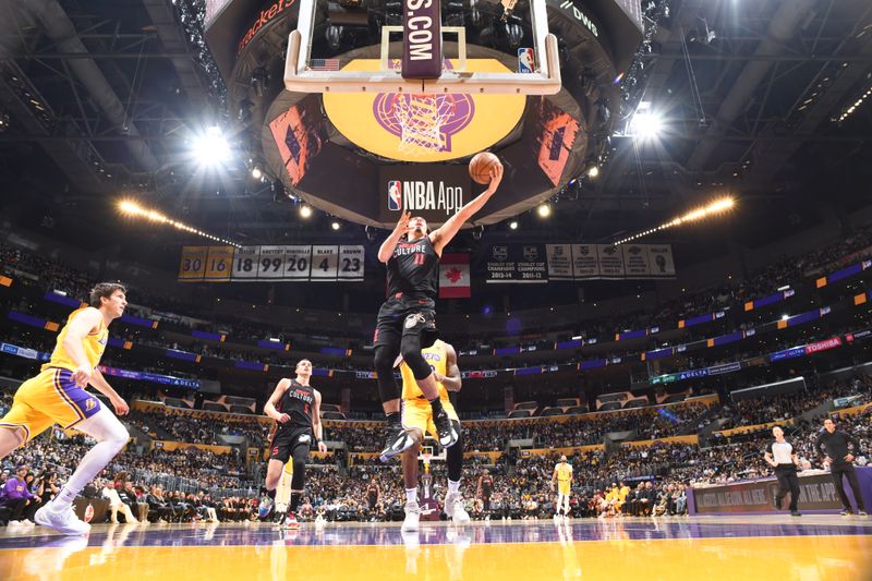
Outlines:
{"type": "Polygon", "coordinates": [[[266,491],[276,498],[276,487],[281,480],[284,464],[293,458],[291,477],[291,503],[282,526],[295,529],[296,508],[303,495],[308,447],[314,436],[318,451],[326,452],[327,445],[322,441],[320,394],[308,385],[312,377],[312,362],[300,360],[294,379],[281,379],[264,406],[264,412],[276,421],[269,440],[269,464],[266,469],[266,491]]]}

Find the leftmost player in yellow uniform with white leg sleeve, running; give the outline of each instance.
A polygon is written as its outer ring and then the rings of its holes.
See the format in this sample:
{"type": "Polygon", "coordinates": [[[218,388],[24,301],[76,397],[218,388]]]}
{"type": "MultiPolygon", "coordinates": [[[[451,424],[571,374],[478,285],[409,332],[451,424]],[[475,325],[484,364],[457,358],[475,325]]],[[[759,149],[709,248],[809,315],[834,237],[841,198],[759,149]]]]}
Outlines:
{"type": "Polygon", "coordinates": [[[97,370],[109,341],[109,324],[124,314],[126,290],[101,282],[90,291],[90,306],[74,311],[58,335],[51,359],[36,377],[15,392],[12,408],[0,420],[0,460],[55,424],[74,427],[97,440],[53,500],[36,511],[38,524],[64,534],[85,534],[90,526],[78,520],[72,504],[76,495],[128,443],[128,429],[100,404],[88,385],[109,398],[119,415],[128,403],[97,370]]]}

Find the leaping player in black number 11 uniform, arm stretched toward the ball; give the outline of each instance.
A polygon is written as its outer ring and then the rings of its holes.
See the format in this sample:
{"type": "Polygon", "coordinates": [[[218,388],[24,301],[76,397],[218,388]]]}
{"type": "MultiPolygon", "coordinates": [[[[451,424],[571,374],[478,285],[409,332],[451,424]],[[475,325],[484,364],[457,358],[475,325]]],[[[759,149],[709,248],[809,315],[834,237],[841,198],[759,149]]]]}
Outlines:
{"type": "Polygon", "coordinates": [[[388,277],[387,300],[378,310],[373,341],[378,395],[387,416],[383,462],[402,453],[415,441],[402,427],[400,416],[400,390],[393,378],[393,363],[400,354],[412,370],[424,398],[431,403],[439,444],[450,448],[457,443],[457,429],[443,409],[433,370],[421,350],[432,346],[438,337],[435,306],[439,256],[460,227],[494,195],[501,180],[502,166],[497,165],[491,170],[487,190],[429,233],[424,218],[412,218],[408,211],[403,211],[397,227],[378,249],[378,259],[387,265],[388,277]]]}

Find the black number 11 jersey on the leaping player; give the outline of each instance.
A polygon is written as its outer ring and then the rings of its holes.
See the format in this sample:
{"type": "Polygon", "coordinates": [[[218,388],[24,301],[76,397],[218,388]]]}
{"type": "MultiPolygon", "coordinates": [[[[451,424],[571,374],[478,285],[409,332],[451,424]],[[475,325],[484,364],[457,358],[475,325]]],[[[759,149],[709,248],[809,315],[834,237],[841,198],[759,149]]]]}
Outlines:
{"type": "Polygon", "coordinates": [[[436,299],[439,255],[429,237],[399,242],[388,259],[388,298],[398,293],[436,299]]]}

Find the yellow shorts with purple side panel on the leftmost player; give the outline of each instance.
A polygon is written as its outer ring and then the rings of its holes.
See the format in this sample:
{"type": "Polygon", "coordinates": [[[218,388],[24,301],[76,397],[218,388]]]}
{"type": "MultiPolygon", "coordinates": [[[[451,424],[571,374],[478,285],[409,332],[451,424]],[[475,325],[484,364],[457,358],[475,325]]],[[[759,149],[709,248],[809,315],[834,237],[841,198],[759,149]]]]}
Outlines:
{"type": "Polygon", "coordinates": [[[100,401],[73,382],[73,372],[49,367],[24,382],[0,426],[23,427],[26,440],[52,425],[73,427],[100,411],[100,401]]]}

